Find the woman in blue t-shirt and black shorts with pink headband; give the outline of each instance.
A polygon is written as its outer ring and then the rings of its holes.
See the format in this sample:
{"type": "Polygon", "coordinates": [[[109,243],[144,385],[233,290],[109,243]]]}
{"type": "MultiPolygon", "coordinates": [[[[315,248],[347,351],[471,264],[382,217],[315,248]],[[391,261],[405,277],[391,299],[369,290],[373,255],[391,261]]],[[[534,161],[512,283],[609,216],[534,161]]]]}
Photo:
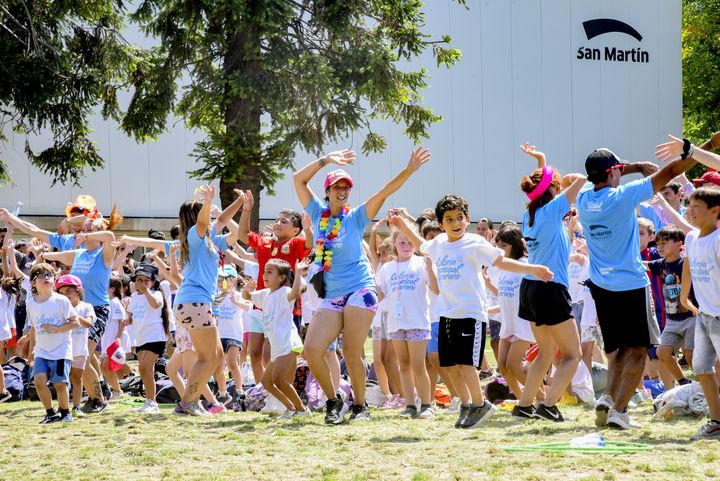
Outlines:
{"type": "Polygon", "coordinates": [[[538,160],[538,168],[520,181],[520,188],[530,199],[522,225],[528,262],[547,267],[555,273],[555,278],[553,282],[543,282],[526,275],[520,284],[518,315],[530,321],[538,356],[530,365],[513,415],[558,422],[563,421],[563,417],[555,404],[572,380],[581,353],[568,292],[570,239],[563,219],[571,212],[571,204],[585,183],[585,177],[580,174],[561,177],[546,165],[545,155],[535,150],[535,146],[525,144],[522,150],[538,160]],[[552,386],[535,408],[533,401],[558,350],[561,357],[552,386]]]}

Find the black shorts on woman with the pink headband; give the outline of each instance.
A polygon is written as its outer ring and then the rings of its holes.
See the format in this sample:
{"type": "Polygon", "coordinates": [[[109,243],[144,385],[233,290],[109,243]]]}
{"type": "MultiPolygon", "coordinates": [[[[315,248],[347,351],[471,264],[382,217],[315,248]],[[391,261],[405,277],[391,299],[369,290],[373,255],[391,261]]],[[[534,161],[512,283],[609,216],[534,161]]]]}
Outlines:
{"type": "Polygon", "coordinates": [[[572,319],[570,293],[557,282],[523,279],[518,315],[536,326],[556,326],[572,319]]]}

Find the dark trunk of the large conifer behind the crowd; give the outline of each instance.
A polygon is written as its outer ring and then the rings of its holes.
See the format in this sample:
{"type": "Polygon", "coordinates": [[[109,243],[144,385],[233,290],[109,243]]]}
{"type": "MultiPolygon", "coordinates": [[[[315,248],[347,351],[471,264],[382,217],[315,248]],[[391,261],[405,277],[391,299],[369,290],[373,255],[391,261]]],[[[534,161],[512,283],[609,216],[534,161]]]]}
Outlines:
{"type": "MultiPolygon", "coordinates": [[[[253,23],[253,15],[243,18],[235,29],[229,28],[228,52],[224,59],[225,77],[239,76],[252,85],[261,82],[260,29],[253,23]]],[[[227,99],[225,127],[228,145],[225,152],[226,174],[220,179],[220,200],[223,207],[234,199],[233,189],[250,190],[255,197],[250,227],[259,227],[260,193],[263,190],[260,157],[260,99],[256,89],[242,89],[245,96],[233,95],[229,82],[225,87],[227,99]],[[255,96],[253,96],[255,95],[255,96]]]]}

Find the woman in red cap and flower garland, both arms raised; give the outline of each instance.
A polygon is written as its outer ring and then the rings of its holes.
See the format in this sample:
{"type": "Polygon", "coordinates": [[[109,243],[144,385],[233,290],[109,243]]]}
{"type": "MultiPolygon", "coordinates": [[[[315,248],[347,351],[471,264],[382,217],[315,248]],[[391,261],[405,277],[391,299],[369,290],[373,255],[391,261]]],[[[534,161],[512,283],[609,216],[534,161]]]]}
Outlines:
{"type": "MultiPolygon", "coordinates": [[[[324,355],[330,344],[343,333],[343,354],[350,374],[355,404],[351,421],[367,421],[370,411],[365,405],[365,340],[370,330],[377,294],[370,262],[363,252],[365,226],[377,215],[385,199],[397,191],[425,162],[430,151],[422,147],[413,151],[407,167],[385,184],[379,192],[357,207],[348,199],[353,181],[347,172],[334,170],[325,178],[325,199],[318,198],[308,186],[323,167],[351,164],[355,152],[333,152],[296,172],[293,181],[298,199],[312,218],[315,234],[314,271],[323,272],[324,296],[305,337],[304,355],[315,379],[327,395],[327,424],[340,424],[347,412],[343,398],[337,394],[324,355]]],[[[311,268],[312,269],[312,268],[311,268]]]]}

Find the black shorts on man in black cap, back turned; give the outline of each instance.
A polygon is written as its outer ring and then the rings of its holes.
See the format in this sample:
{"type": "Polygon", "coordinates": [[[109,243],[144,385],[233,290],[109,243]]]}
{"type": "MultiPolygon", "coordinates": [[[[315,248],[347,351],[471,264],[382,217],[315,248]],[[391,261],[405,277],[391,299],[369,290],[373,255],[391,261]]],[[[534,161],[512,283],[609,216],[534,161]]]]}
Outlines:
{"type": "Polygon", "coordinates": [[[660,343],[660,328],[649,287],[608,291],[587,281],[597,307],[605,352],[626,347],[650,348],[660,343]]]}

